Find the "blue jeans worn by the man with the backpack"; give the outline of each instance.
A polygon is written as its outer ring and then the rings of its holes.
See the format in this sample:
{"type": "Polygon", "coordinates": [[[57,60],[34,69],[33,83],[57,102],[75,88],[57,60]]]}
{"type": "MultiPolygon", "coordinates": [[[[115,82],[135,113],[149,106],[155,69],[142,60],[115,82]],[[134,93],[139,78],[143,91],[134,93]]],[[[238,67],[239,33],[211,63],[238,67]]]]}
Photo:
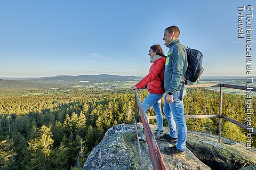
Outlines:
{"type": "MultiPolygon", "coordinates": [[[[183,91],[183,96],[186,94],[186,91],[183,91]]],[[[184,116],[184,105],[183,100],[179,100],[180,92],[175,92],[173,94],[174,102],[173,103],[167,103],[166,102],[166,96],[168,95],[168,92],[166,92],[165,95],[165,102],[164,102],[164,108],[163,112],[165,114],[165,117],[167,118],[167,122],[170,128],[170,137],[177,138],[178,137],[178,143],[176,147],[183,151],[186,149],[186,139],[187,139],[187,125],[185,121],[184,116]],[[176,125],[178,129],[178,135],[176,132],[176,125]]]]}

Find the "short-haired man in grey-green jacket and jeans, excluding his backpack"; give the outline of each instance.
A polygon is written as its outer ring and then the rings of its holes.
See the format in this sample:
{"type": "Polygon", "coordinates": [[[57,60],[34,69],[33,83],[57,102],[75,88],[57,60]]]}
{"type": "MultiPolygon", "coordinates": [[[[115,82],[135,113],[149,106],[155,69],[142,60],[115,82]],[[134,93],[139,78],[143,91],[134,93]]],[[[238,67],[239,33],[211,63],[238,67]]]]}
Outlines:
{"type": "MultiPolygon", "coordinates": [[[[173,147],[165,147],[164,151],[169,155],[185,156],[187,125],[183,101],[179,99],[179,95],[183,75],[187,68],[187,50],[185,46],[179,44],[179,35],[180,30],[175,25],[166,28],[164,31],[164,45],[169,48],[169,52],[167,53],[164,70],[164,89],[166,94],[163,112],[170,128],[170,134],[165,134],[165,139],[174,145],[173,147]]],[[[185,94],[186,89],[184,88],[182,97],[185,94]]]]}

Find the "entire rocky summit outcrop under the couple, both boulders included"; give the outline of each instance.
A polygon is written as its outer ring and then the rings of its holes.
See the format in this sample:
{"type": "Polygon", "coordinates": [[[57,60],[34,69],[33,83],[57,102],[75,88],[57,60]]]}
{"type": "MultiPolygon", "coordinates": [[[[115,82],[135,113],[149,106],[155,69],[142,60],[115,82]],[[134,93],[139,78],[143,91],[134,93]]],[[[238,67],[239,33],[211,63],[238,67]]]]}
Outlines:
{"type": "MultiPolygon", "coordinates": [[[[142,132],[138,123],[138,131],[142,132]]],[[[156,126],[151,125],[154,131],[156,126]]],[[[169,130],[164,128],[164,132],[169,130]]],[[[168,141],[157,140],[167,169],[239,169],[256,164],[256,151],[247,151],[241,142],[197,131],[188,131],[186,156],[169,156],[163,151],[165,146],[172,146],[168,141]]],[[[146,142],[141,143],[144,169],[153,169],[146,142]]],[[[86,159],[84,170],[89,169],[141,169],[138,142],[134,124],[119,124],[110,128],[105,137],[86,159]]]]}

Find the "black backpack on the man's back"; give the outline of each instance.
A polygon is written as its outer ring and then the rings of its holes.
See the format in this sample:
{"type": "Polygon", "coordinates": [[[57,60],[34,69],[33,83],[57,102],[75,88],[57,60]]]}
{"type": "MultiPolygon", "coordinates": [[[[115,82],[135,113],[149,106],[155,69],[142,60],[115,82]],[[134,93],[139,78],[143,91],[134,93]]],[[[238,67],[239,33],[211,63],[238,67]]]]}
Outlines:
{"type": "Polygon", "coordinates": [[[188,57],[188,66],[186,69],[186,73],[183,77],[182,86],[180,89],[180,100],[182,100],[184,84],[193,85],[195,84],[201,77],[204,69],[202,67],[203,54],[199,52],[197,49],[186,48],[187,49],[187,57],[188,57]]]}

